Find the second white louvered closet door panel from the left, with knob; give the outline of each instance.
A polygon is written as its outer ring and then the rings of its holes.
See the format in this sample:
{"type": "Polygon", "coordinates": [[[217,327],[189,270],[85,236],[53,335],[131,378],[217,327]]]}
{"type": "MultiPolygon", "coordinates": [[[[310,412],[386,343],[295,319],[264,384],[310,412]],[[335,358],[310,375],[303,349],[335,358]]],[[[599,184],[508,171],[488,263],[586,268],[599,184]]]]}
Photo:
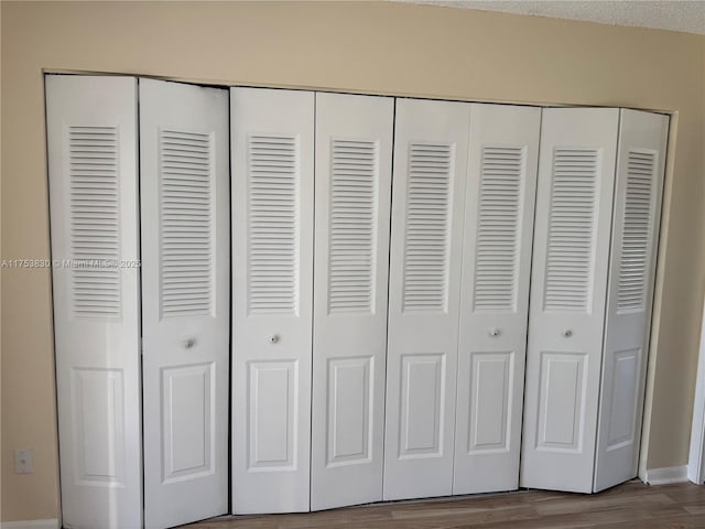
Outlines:
{"type": "Polygon", "coordinates": [[[144,525],[228,511],[228,91],[140,79],[144,525]]]}

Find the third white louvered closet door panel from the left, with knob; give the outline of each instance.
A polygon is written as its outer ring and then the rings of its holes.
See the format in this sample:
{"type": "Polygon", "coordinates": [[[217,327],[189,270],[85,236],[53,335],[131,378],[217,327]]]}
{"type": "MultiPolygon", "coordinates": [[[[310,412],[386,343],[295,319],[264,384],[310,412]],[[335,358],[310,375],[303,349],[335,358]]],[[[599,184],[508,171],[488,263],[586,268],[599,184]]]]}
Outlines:
{"type": "Polygon", "coordinates": [[[310,509],[314,94],[231,88],[232,503],[310,509]]]}

